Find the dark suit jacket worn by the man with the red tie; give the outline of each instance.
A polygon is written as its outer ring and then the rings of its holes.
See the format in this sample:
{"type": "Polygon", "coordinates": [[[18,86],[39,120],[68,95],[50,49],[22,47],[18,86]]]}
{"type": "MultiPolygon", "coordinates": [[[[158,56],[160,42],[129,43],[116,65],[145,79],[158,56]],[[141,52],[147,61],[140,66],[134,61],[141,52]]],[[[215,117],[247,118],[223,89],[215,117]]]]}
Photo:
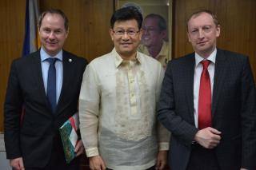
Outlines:
{"type": "MultiPolygon", "coordinates": [[[[185,170],[194,125],[194,53],[170,61],[162,83],[158,119],[172,132],[170,168],[185,170]]],[[[214,149],[221,169],[256,169],[256,99],[248,57],[217,50],[212,99],[213,128],[222,132],[214,149]]]]}

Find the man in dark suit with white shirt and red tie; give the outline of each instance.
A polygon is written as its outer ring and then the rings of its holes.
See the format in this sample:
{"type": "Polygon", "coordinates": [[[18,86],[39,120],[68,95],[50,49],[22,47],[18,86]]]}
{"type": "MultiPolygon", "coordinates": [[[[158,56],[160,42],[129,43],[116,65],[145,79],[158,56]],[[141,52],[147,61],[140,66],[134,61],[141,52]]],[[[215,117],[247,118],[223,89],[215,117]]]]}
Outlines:
{"type": "Polygon", "coordinates": [[[195,53],[167,65],[158,119],[172,132],[174,170],[256,169],[255,85],[248,57],[217,49],[217,18],[187,22],[195,53]]]}

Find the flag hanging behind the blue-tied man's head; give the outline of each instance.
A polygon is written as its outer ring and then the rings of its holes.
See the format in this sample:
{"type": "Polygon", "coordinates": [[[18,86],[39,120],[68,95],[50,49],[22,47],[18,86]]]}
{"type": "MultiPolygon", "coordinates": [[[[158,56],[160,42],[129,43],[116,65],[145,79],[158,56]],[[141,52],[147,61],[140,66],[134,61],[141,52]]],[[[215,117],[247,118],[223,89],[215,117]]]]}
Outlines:
{"type": "Polygon", "coordinates": [[[25,38],[23,42],[22,56],[33,53],[41,46],[38,38],[38,17],[38,0],[26,0],[25,38]]]}

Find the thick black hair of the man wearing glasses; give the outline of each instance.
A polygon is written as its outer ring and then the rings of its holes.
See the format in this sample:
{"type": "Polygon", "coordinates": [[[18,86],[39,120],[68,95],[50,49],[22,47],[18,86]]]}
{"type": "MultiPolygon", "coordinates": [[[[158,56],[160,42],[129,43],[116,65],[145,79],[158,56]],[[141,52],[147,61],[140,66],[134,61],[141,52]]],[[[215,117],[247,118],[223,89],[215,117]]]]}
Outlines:
{"type": "Polygon", "coordinates": [[[134,6],[126,6],[116,10],[110,19],[110,26],[113,29],[114,23],[117,21],[126,21],[130,19],[135,19],[138,22],[138,29],[142,28],[142,14],[134,6]]]}

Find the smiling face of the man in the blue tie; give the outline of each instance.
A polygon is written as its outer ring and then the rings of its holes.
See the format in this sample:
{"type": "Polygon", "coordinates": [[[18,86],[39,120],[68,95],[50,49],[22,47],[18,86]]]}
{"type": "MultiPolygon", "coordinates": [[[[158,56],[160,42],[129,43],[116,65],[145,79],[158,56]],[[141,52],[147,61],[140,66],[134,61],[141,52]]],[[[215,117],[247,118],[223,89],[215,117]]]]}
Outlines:
{"type": "Polygon", "coordinates": [[[46,14],[42,18],[39,37],[42,48],[50,56],[56,55],[64,45],[68,30],[65,29],[64,19],[60,14],[46,14]]]}

